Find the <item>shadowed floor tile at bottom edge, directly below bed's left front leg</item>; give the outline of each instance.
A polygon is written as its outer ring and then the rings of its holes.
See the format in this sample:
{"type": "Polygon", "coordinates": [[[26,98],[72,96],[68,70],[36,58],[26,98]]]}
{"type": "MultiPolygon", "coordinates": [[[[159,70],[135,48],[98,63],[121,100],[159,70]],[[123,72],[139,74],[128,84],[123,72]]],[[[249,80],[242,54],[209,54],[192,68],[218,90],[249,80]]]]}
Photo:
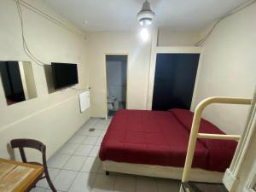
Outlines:
{"type": "Polygon", "coordinates": [[[113,185],[115,181],[115,176],[109,175],[105,176],[102,174],[96,175],[95,183],[92,187],[92,192],[107,192],[113,191],[113,185]]]}

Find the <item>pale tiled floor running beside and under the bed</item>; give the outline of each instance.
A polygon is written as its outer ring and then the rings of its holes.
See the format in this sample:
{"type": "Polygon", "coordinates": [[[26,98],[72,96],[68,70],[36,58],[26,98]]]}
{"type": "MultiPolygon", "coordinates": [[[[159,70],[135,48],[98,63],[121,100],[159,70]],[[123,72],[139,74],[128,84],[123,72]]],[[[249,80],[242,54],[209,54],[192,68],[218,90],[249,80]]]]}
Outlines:
{"type": "MultiPolygon", "coordinates": [[[[178,192],[172,179],[141,177],[110,172],[105,175],[97,157],[110,120],[90,119],[49,160],[49,175],[58,191],[65,192],[178,192]],[[89,131],[95,128],[95,131],[89,131]]],[[[50,192],[45,180],[32,192],[50,192]]]]}

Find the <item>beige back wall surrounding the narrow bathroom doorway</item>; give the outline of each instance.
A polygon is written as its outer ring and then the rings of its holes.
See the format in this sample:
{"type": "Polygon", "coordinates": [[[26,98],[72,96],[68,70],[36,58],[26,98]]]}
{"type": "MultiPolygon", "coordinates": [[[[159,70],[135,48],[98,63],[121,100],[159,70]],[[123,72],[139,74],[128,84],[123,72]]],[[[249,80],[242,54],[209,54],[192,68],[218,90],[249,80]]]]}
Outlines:
{"type": "Polygon", "coordinates": [[[143,42],[138,32],[93,32],[87,36],[91,115],[105,117],[107,113],[105,54],[128,54],[127,108],[146,109],[150,41],[143,42]]]}

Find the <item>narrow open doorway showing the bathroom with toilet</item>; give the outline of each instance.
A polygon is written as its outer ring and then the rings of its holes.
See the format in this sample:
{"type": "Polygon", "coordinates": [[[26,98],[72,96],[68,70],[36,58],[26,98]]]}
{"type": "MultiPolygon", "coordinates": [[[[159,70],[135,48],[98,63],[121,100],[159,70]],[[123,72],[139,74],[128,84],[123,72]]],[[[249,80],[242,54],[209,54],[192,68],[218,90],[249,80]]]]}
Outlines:
{"type": "Polygon", "coordinates": [[[106,55],[108,117],[126,108],[128,55],[106,55]]]}

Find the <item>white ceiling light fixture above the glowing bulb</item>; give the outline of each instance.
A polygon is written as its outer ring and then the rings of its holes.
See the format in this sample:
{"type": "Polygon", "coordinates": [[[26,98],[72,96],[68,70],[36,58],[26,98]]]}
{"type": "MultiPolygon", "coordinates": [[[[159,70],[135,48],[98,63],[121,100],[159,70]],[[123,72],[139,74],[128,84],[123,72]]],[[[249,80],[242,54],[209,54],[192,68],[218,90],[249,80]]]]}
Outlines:
{"type": "Polygon", "coordinates": [[[141,26],[150,26],[154,19],[154,12],[150,8],[150,3],[146,0],[143,9],[137,14],[137,20],[141,26]]]}

